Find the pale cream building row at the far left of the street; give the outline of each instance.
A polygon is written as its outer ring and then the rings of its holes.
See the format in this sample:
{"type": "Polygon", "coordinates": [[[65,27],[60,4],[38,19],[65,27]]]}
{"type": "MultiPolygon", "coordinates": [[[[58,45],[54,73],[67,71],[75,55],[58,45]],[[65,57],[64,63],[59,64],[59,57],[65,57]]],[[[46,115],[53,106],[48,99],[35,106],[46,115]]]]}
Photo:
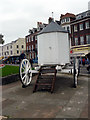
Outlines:
{"type": "Polygon", "coordinates": [[[1,57],[5,59],[10,58],[10,61],[12,61],[13,58],[17,59],[17,57],[20,56],[22,51],[26,51],[25,38],[18,38],[17,40],[12,41],[11,43],[3,45],[1,49],[1,57]]]}

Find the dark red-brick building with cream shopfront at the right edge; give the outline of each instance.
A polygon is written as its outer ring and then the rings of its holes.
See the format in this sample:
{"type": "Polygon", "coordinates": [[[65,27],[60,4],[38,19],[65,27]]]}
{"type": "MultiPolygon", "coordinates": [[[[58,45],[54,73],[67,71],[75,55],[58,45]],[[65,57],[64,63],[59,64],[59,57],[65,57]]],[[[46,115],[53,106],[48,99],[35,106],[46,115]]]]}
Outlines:
{"type": "Polygon", "coordinates": [[[71,22],[71,51],[78,56],[90,52],[90,10],[76,15],[71,22]]]}

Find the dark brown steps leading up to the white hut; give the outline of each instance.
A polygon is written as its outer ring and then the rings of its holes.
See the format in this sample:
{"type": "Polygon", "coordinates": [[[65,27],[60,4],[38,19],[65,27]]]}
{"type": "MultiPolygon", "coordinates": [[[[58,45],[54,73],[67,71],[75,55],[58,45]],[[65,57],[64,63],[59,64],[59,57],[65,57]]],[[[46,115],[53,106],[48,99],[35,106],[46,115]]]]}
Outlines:
{"type": "Polygon", "coordinates": [[[41,67],[38,73],[36,83],[34,85],[33,92],[39,89],[50,89],[51,93],[54,90],[54,84],[56,80],[56,69],[55,67],[41,67]],[[53,74],[53,75],[52,75],[53,74]]]}

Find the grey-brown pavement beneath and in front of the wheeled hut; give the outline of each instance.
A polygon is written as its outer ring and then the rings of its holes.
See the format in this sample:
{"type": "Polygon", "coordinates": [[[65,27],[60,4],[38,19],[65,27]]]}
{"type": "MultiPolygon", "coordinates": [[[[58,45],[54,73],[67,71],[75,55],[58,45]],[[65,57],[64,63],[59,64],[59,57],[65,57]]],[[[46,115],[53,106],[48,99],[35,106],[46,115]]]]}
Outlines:
{"type": "Polygon", "coordinates": [[[57,74],[54,93],[33,93],[32,83],[22,88],[21,82],[2,86],[2,115],[8,118],[88,118],[88,76],[79,76],[73,88],[73,76],[57,74]]]}

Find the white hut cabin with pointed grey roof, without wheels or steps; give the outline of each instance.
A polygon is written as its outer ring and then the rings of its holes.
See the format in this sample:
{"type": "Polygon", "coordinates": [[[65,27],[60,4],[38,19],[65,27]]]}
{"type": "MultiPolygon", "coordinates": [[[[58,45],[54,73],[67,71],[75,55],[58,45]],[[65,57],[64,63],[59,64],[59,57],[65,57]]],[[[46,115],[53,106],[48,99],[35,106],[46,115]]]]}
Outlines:
{"type": "Polygon", "coordinates": [[[38,34],[38,64],[64,65],[69,62],[68,33],[52,21],[38,34]]]}

